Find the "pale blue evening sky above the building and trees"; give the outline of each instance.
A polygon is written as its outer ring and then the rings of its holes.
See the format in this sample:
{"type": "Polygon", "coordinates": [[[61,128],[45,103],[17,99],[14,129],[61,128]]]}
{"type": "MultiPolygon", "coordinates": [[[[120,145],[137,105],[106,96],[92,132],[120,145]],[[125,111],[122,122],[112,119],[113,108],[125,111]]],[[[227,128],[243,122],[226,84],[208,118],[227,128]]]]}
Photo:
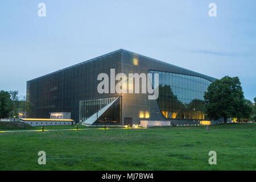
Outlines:
{"type": "Polygon", "coordinates": [[[123,48],[216,78],[256,97],[256,1],[0,2],[0,89],[123,48]],[[46,17],[38,4],[46,4],[46,17]],[[217,17],[209,17],[209,3],[217,17]]]}

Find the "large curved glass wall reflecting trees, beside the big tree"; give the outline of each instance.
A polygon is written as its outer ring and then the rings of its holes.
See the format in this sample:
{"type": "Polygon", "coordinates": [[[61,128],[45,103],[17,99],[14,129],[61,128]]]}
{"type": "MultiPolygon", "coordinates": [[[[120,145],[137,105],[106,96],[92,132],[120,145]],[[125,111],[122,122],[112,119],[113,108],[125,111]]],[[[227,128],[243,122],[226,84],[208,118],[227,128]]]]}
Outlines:
{"type": "MultiPolygon", "coordinates": [[[[160,71],[158,104],[168,119],[206,119],[204,92],[210,81],[197,76],[160,71]]],[[[154,86],[154,75],[152,75],[154,86]]]]}

